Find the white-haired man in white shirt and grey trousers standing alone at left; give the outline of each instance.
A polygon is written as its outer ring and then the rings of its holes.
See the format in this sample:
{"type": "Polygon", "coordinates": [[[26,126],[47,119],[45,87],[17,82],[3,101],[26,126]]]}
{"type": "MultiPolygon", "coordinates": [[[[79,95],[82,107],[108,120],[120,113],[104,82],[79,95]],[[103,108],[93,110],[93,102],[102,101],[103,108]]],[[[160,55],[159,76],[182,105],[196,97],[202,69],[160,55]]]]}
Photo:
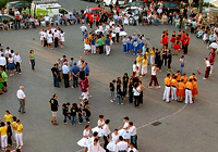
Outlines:
{"type": "Polygon", "coordinates": [[[25,112],[26,96],[24,93],[24,86],[20,86],[20,90],[17,90],[16,97],[17,97],[19,102],[20,102],[19,112],[22,113],[22,114],[26,113],[25,112]]]}

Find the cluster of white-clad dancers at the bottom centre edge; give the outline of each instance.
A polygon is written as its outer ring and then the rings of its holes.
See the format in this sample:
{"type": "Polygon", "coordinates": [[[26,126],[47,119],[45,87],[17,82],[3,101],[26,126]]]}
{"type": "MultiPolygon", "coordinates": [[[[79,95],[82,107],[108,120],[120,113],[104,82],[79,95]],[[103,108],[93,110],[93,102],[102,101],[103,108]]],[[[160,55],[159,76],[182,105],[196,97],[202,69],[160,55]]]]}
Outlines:
{"type": "Polygon", "coordinates": [[[123,118],[123,127],[116,128],[111,134],[110,119],[105,121],[105,116],[99,115],[97,126],[92,129],[93,136],[90,126],[86,125],[83,138],[77,141],[77,144],[84,148],[84,152],[137,152],[136,127],[128,116],[123,118]]]}

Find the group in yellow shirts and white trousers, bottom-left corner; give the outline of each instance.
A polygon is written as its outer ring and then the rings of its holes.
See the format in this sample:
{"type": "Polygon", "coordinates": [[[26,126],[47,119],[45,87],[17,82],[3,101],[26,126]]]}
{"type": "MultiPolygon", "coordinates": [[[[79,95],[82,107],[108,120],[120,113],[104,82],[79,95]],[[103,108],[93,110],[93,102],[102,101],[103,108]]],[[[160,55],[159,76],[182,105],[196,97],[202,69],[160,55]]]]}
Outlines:
{"type": "Polygon", "coordinates": [[[12,116],[10,111],[5,111],[3,121],[0,123],[1,134],[1,149],[5,152],[21,152],[23,147],[23,125],[16,116],[12,116]],[[8,148],[12,148],[12,144],[16,144],[14,151],[10,151],[8,148]]]}

